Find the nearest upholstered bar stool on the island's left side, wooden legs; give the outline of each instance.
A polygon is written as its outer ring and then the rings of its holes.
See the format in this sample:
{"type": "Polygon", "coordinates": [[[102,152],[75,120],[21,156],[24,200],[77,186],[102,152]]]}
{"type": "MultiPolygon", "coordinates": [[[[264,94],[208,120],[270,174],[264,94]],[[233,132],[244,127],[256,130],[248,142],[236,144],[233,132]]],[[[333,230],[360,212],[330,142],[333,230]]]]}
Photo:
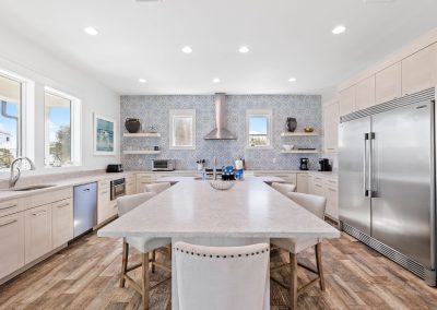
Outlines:
{"type": "MultiPolygon", "coordinates": [[[[150,193],[139,193],[133,195],[121,196],[117,199],[117,207],[118,207],[118,216],[122,216],[123,214],[130,212],[140,204],[146,202],[151,198],[156,195],[154,192],[150,193]]],[[[142,237],[127,237],[123,238],[122,243],[122,263],[121,263],[121,274],[120,274],[120,287],[125,287],[126,281],[131,285],[141,296],[142,296],[142,306],[143,309],[149,309],[149,291],[150,289],[155,288],[161,283],[169,279],[166,278],[153,287],[150,287],[149,283],[149,264],[152,264],[152,269],[154,266],[161,267],[166,271],[172,271],[170,267],[157,263],[153,258],[152,261],[149,259],[149,253],[154,252],[156,249],[165,247],[172,243],[170,238],[142,238],[142,237]],[[135,248],[142,254],[141,263],[128,266],[129,260],[129,247],[135,248]],[[138,267],[142,267],[142,277],[141,283],[138,284],[133,278],[128,275],[128,272],[131,272],[138,267]]]]}

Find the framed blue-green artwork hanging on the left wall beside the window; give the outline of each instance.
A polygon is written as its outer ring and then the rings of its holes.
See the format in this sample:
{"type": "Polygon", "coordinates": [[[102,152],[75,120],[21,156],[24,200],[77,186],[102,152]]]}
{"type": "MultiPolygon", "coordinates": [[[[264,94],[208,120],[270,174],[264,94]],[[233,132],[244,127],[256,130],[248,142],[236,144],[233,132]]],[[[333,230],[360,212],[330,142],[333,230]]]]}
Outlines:
{"type": "Polygon", "coordinates": [[[94,115],[94,155],[116,155],[116,122],[94,115]]]}

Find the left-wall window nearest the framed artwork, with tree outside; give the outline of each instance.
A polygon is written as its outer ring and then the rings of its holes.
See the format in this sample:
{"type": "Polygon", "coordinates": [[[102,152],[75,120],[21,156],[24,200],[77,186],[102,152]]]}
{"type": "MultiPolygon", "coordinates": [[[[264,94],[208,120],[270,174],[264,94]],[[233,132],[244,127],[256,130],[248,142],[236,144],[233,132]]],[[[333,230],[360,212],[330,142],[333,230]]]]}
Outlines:
{"type": "Polygon", "coordinates": [[[44,103],[46,167],[80,165],[79,100],[46,88],[44,103]]]}

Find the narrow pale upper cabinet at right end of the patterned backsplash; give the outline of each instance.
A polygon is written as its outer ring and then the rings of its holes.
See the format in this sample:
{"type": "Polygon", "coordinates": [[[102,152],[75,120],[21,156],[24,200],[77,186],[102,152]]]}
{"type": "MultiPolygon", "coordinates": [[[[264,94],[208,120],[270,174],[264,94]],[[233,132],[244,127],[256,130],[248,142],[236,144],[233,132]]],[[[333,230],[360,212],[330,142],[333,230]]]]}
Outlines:
{"type": "Polygon", "coordinates": [[[338,151],[339,123],[339,103],[326,105],[323,107],[323,144],[327,153],[338,151]]]}

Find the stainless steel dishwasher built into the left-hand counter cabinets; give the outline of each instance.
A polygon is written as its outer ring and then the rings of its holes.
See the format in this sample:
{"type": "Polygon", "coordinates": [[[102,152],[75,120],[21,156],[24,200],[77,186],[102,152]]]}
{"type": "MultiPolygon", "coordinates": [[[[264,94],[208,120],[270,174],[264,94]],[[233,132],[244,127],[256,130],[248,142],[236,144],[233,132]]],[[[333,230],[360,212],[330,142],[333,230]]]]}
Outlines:
{"type": "Polygon", "coordinates": [[[74,187],[74,237],[97,225],[97,183],[74,187]]]}

